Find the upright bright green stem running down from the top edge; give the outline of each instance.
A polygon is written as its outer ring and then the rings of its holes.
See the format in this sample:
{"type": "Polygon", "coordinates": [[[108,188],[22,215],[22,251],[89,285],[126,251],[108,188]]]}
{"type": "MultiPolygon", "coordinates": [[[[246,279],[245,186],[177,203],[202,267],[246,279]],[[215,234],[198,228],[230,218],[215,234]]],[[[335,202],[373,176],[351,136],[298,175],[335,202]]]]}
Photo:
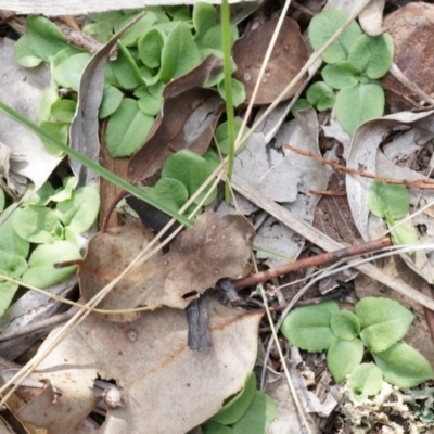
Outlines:
{"type": "Polygon", "coordinates": [[[231,40],[230,40],[230,11],[228,0],[221,3],[221,39],[224,47],[225,73],[225,102],[228,120],[228,169],[226,174],[225,201],[230,202],[230,180],[232,179],[233,161],[235,155],[235,119],[232,104],[232,71],[231,71],[231,40]]]}

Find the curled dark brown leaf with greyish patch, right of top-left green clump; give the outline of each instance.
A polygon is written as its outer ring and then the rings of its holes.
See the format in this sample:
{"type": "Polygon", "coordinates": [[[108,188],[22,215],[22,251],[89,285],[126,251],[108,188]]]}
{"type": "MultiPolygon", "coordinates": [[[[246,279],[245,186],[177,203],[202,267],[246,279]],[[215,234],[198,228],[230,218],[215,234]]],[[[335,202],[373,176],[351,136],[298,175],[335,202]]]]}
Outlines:
{"type": "Polygon", "coordinates": [[[221,113],[221,98],[203,89],[206,79],[221,72],[221,60],[210,55],[197,67],[168,84],[164,106],[146,142],[131,156],[128,180],[136,183],[154,175],[175,152],[189,149],[202,155],[213,139],[221,113]]]}

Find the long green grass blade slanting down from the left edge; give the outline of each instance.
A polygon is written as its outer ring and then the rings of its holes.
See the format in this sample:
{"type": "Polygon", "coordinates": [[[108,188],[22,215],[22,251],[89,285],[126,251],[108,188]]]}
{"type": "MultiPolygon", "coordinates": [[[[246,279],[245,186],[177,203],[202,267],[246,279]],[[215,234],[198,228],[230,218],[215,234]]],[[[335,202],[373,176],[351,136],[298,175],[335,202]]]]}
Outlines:
{"type": "Polygon", "coordinates": [[[59,142],[56,139],[54,139],[49,132],[44,131],[42,128],[40,128],[38,125],[34,124],[31,120],[27,119],[25,116],[23,116],[21,113],[16,112],[12,107],[10,107],[8,104],[5,104],[3,101],[0,100],[0,112],[4,113],[7,116],[9,116],[11,119],[15,120],[23,127],[27,128],[35,135],[37,135],[39,138],[44,139],[55,145],[59,150],[67,154],[69,157],[76,159],[77,162],[81,163],[84,166],[88,167],[89,169],[93,170],[97,175],[105,178],[107,181],[113,182],[117,187],[122,188],[123,190],[127,191],[128,193],[137,196],[138,199],[149,203],[150,205],[154,206],[155,208],[162,210],[163,213],[169,215],[170,217],[175,218],[178,220],[180,224],[186,225],[187,227],[192,226],[192,221],[189,220],[187,217],[181,216],[178,213],[174,213],[171,209],[166,208],[164,205],[161,203],[152,200],[142,190],[138,189],[137,187],[130,184],[127,182],[125,179],[119,178],[118,176],[112,174],[110,170],[106,168],[100,166],[98,163],[92,162],[85,155],[80,154],[78,151],[59,142]]]}

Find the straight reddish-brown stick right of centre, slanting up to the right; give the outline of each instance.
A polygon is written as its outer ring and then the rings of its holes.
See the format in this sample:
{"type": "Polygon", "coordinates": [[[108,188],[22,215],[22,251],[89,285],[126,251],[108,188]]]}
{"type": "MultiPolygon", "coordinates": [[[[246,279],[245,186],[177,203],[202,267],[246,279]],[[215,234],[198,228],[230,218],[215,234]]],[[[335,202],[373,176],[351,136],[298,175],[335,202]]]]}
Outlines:
{"type": "Polygon", "coordinates": [[[317,267],[319,265],[331,264],[345,257],[374,252],[391,244],[392,241],[390,238],[380,238],[378,240],[368,241],[367,243],[356,244],[349,247],[341,248],[339,251],[322,253],[321,255],[296,260],[295,263],[285,264],[281,267],[272,268],[263,272],[257,272],[245,278],[234,279],[232,280],[232,284],[237,290],[240,290],[245,286],[255,285],[259,282],[265,282],[266,280],[277,278],[278,276],[288,275],[292,271],[299,271],[308,267],[317,267]]]}

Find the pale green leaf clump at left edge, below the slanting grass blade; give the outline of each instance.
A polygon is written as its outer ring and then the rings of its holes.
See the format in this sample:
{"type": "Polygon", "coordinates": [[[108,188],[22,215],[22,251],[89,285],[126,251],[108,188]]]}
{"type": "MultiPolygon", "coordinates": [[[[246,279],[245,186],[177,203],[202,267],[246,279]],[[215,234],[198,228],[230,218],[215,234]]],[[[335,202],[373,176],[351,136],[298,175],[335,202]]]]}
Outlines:
{"type": "MultiPolygon", "coordinates": [[[[100,196],[93,187],[75,189],[76,179],[65,179],[54,190],[46,182],[0,226],[0,273],[24,283],[48,288],[71,276],[76,267],[54,268],[55,263],[79,259],[78,235],[95,221],[100,196]]],[[[0,189],[2,192],[2,190],[0,189]]],[[[18,285],[0,280],[0,317],[18,285]]]]}

